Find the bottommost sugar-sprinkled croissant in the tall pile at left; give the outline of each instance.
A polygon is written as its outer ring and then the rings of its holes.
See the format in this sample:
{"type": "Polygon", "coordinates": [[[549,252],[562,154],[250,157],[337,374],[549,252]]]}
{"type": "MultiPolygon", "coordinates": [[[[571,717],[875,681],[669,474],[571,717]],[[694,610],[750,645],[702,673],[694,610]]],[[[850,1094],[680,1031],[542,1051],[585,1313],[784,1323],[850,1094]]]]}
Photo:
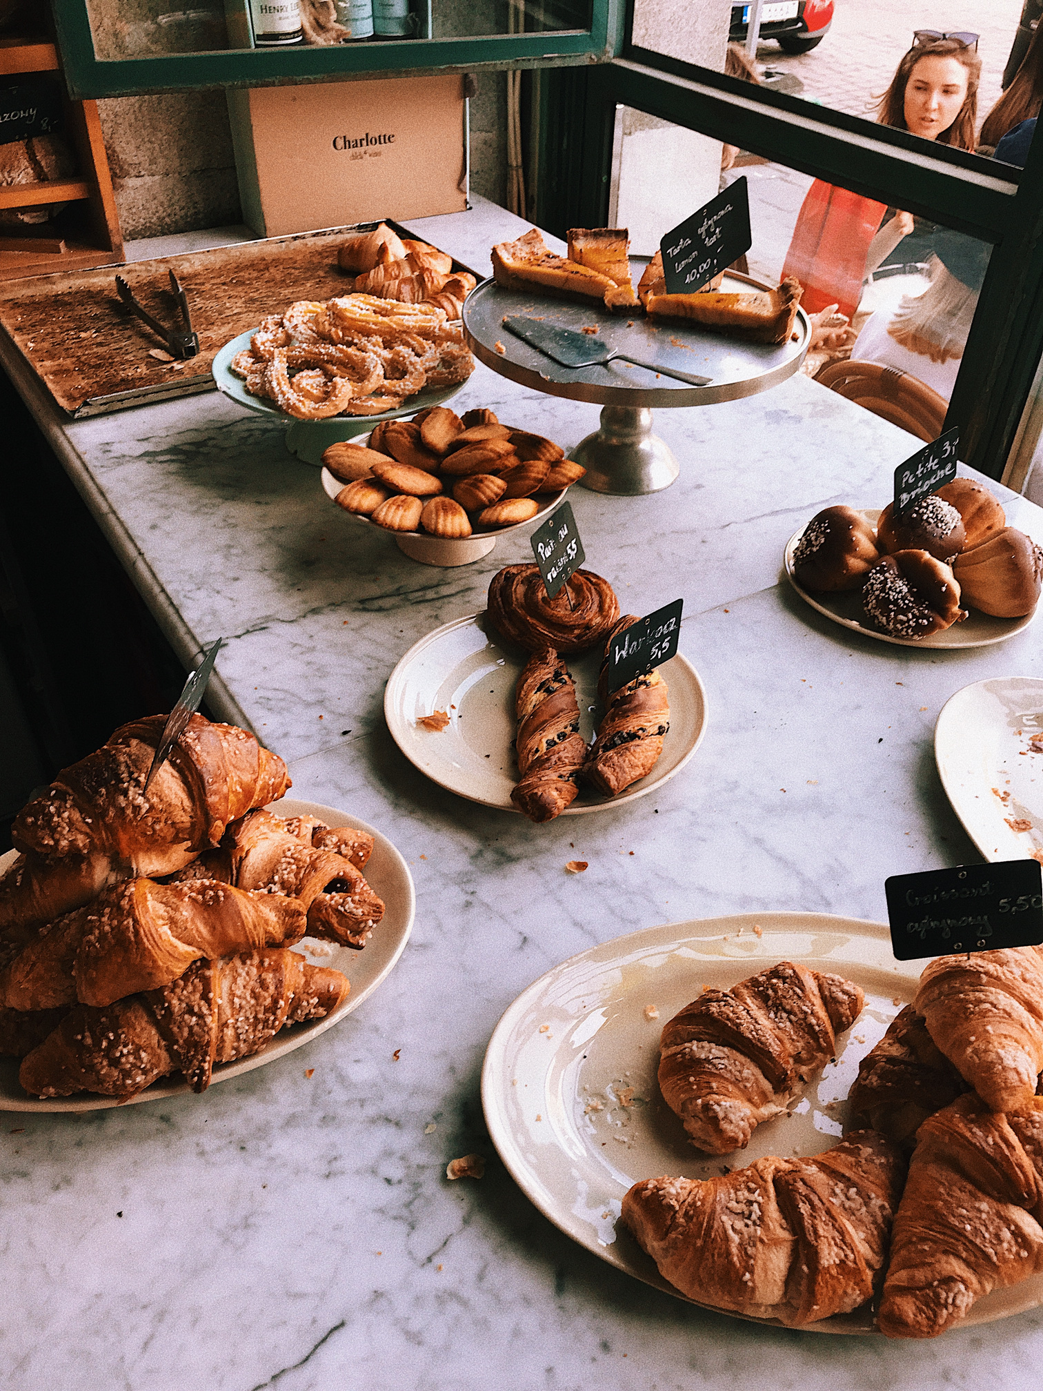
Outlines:
{"type": "Polygon", "coordinates": [[[284,947],[195,961],[161,990],[70,1010],[22,1060],[18,1079],[33,1096],[127,1100],[181,1071],[202,1092],[214,1063],[249,1057],[284,1025],[331,1014],[348,990],[339,971],[284,947]]]}

